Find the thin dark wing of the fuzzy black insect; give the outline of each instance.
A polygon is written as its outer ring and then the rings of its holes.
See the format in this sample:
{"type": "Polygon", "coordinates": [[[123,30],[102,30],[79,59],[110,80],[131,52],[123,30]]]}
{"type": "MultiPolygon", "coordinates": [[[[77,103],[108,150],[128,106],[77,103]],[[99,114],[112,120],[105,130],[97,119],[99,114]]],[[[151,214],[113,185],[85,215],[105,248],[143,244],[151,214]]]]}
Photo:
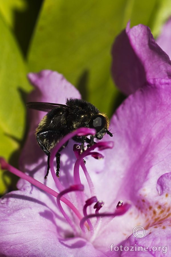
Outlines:
{"type": "Polygon", "coordinates": [[[62,105],[62,104],[55,104],[55,103],[43,103],[43,102],[30,102],[27,103],[27,107],[30,109],[38,110],[38,111],[43,111],[43,112],[49,112],[55,107],[64,107],[68,108],[67,105],[62,105]]]}

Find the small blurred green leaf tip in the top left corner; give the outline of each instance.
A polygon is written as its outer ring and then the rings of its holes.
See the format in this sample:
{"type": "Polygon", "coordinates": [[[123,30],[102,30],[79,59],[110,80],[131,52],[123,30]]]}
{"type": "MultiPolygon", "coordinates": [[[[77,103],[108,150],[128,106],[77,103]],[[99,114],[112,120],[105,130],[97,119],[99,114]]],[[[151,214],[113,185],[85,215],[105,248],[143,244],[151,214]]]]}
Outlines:
{"type": "Polygon", "coordinates": [[[1,15],[10,27],[14,26],[14,11],[25,11],[26,8],[26,0],[0,0],[1,15]]]}

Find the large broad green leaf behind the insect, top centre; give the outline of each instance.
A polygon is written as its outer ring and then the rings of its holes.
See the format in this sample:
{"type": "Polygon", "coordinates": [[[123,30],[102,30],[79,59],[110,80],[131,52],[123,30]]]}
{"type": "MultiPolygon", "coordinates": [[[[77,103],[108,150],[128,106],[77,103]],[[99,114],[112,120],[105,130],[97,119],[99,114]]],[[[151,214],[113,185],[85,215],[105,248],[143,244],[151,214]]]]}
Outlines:
{"type": "Polygon", "coordinates": [[[156,1],[44,1],[28,53],[30,71],[62,73],[83,99],[111,116],[119,96],[110,75],[113,41],[129,19],[148,24],[156,1]]]}

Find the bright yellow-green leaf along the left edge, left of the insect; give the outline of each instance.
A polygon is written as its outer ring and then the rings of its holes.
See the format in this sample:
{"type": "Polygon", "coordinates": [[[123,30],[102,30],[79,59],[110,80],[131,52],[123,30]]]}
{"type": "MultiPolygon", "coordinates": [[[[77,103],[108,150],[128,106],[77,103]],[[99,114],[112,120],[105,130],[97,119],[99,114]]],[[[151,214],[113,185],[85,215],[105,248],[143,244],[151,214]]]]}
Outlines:
{"type": "MultiPolygon", "coordinates": [[[[22,95],[30,91],[31,86],[18,45],[1,17],[0,35],[0,156],[8,160],[23,138],[26,114],[22,95]]],[[[1,194],[6,183],[2,171],[0,175],[1,194]]]]}

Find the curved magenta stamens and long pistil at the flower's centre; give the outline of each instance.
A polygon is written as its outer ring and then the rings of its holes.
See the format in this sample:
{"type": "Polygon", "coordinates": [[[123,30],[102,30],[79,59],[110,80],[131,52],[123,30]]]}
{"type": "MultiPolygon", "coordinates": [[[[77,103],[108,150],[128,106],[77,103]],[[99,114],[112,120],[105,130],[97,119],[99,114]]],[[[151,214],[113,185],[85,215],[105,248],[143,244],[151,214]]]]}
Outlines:
{"type": "MultiPolygon", "coordinates": [[[[20,178],[24,178],[25,180],[27,180],[28,182],[34,184],[35,186],[39,187],[40,189],[48,192],[49,194],[55,196],[57,198],[57,204],[58,204],[58,208],[60,209],[61,213],[63,214],[64,218],[66,219],[66,221],[70,224],[70,226],[72,227],[72,230],[74,232],[75,235],[79,235],[80,234],[80,228],[82,230],[82,232],[85,233],[91,233],[91,236],[93,235],[93,232],[95,230],[95,228],[99,225],[100,219],[102,217],[115,217],[115,216],[119,216],[119,215],[123,215],[125,212],[127,212],[127,210],[129,209],[130,205],[129,204],[125,204],[123,205],[123,201],[119,201],[117,206],[116,206],[116,210],[113,213],[99,213],[99,210],[102,208],[104,202],[101,200],[98,200],[97,197],[95,196],[95,189],[93,186],[93,182],[91,180],[91,177],[89,176],[89,173],[86,169],[86,165],[85,165],[85,161],[84,158],[88,155],[91,155],[93,158],[96,159],[101,159],[104,156],[99,153],[99,152],[95,152],[93,151],[95,148],[98,148],[99,151],[101,150],[105,150],[107,148],[113,148],[113,142],[109,141],[109,142],[97,142],[94,145],[88,147],[86,150],[82,151],[81,150],[81,146],[78,144],[74,144],[73,150],[75,153],[75,156],[77,158],[75,165],[74,165],[74,185],[70,186],[69,188],[64,188],[62,186],[62,184],[60,183],[59,178],[56,176],[55,170],[54,170],[54,158],[56,155],[56,152],[58,152],[58,150],[62,147],[62,145],[65,144],[65,142],[67,142],[70,138],[72,138],[73,136],[77,135],[77,136],[87,136],[87,135],[93,135],[95,134],[95,130],[91,129],[91,128],[79,128],[78,130],[75,130],[69,134],[67,134],[66,136],[64,136],[62,138],[62,140],[53,148],[51,154],[50,154],[50,171],[52,173],[52,177],[56,183],[57,188],[59,189],[60,193],[57,193],[56,191],[52,190],[51,188],[45,186],[44,184],[40,183],[39,181],[35,180],[34,178],[24,174],[23,172],[17,170],[16,168],[14,168],[13,166],[11,166],[10,164],[8,164],[7,162],[5,162],[5,160],[3,158],[0,158],[0,164],[1,164],[1,168],[2,169],[7,169],[10,172],[16,174],[17,176],[19,176],[20,178]],[[80,166],[82,167],[82,170],[85,174],[89,189],[90,189],[90,194],[91,197],[86,199],[86,192],[84,190],[84,185],[82,185],[81,183],[81,179],[80,179],[80,166]],[[74,192],[76,194],[76,204],[77,207],[75,207],[72,204],[72,200],[70,198],[69,193],[70,192],[74,192]],[[66,197],[64,197],[63,195],[66,194],[66,197]],[[64,211],[64,209],[62,208],[61,205],[61,201],[64,202],[65,204],[68,205],[69,209],[72,210],[75,214],[76,217],[78,219],[78,221],[80,222],[80,228],[78,226],[76,226],[76,224],[73,222],[71,215],[68,215],[68,213],[66,213],[64,211]],[[95,212],[94,213],[89,213],[88,214],[88,209],[92,209],[90,206],[92,204],[94,204],[94,209],[95,212]],[[95,217],[96,221],[95,222],[91,222],[91,218],[95,217]]],[[[70,214],[70,213],[69,213],[70,214]]]]}

